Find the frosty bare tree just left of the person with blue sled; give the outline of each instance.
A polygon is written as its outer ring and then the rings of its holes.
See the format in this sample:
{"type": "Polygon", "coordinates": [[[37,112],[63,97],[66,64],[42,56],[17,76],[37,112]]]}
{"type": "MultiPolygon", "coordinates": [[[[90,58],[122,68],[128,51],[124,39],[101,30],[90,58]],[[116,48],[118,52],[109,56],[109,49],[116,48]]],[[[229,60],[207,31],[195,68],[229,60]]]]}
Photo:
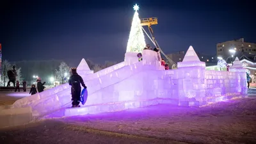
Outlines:
{"type": "Polygon", "coordinates": [[[61,81],[61,84],[64,83],[65,79],[70,76],[69,73],[70,67],[68,67],[67,63],[61,62],[59,66],[59,70],[56,70],[56,75],[58,81],[61,81]]]}

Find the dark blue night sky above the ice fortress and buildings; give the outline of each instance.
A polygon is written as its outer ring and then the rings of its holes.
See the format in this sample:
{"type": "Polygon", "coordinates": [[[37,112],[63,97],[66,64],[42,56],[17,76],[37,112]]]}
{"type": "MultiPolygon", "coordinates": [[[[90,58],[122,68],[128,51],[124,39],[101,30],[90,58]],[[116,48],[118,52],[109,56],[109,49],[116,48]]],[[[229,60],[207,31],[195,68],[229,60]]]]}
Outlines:
{"type": "Polygon", "coordinates": [[[152,28],[166,54],[193,45],[215,55],[218,42],[256,40],[252,1],[52,1],[0,2],[4,60],[122,61],[135,3],[140,18],[158,18],[152,28]]]}

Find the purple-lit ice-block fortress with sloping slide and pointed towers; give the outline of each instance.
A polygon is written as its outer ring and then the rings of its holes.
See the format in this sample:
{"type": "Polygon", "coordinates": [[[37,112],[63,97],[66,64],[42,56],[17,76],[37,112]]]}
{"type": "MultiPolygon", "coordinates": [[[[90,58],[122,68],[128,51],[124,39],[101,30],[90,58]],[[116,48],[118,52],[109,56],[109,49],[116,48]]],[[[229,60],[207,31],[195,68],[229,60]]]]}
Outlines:
{"type": "Polygon", "coordinates": [[[17,100],[12,109],[31,109],[31,119],[86,115],[142,108],[157,104],[203,106],[211,102],[244,97],[246,70],[239,60],[230,72],[205,70],[193,47],[174,70],[162,70],[156,52],[143,50],[143,61],[136,53],[125,54],[125,61],[94,74],[82,60],[77,70],[88,87],[88,100],[81,108],[70,108],[70,86],[62,84],[45,92],[17,100]]]}

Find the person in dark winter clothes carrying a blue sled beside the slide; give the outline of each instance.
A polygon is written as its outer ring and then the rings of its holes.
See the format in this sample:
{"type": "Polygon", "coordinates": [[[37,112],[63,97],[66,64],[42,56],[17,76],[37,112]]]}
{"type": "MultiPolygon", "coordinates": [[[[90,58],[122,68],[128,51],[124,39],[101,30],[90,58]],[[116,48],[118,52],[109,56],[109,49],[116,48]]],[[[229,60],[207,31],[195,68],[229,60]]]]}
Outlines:
{"type": "Polygon", "coordinates": [[[76,68],[71,68],[72,75],[68,80],[68,84],[71,87],[71,95],[72,95],[72,108],[80,107],[79,100],[81,95],[81,84],[84,88],[86,88],[83,78],[79,76],[76,72],[76,68]]]}

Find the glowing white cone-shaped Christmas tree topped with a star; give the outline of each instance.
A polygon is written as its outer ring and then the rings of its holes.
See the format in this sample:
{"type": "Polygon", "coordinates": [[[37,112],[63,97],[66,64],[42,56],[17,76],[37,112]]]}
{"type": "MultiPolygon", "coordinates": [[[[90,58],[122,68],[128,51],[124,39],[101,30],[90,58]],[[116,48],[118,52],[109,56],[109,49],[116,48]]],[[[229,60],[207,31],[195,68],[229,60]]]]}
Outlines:
{"type": "Polygon", "coordinates": [[[146,46],[146,42],[140,24],[139,13],[137,12],[139,10],[139,6],[135,4],[133,9],[135,10],[135,13],[132,19],[132,26],[126,52],[142,52],[146,46]]]}

